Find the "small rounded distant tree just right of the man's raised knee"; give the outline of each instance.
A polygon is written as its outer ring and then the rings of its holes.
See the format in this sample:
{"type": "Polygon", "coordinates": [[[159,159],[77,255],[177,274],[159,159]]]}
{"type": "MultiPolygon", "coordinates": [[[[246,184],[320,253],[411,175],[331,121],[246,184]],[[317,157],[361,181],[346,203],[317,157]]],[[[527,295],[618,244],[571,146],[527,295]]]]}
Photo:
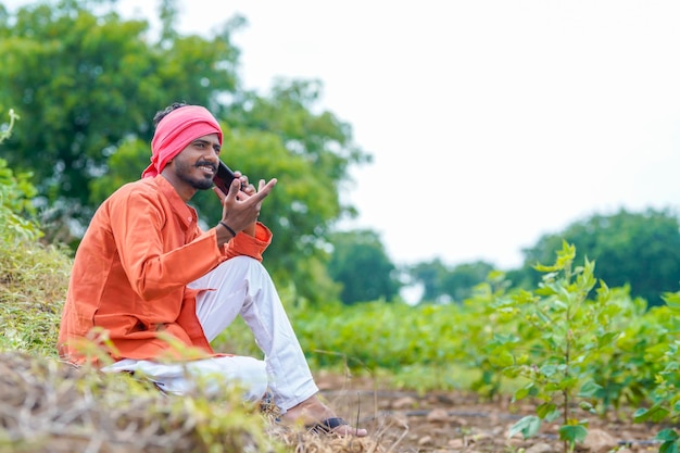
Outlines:
{"type": "Polygon", "coordinates": [[[375,231],[335,234],[332,247],[328,272],[342,285],[340,299],[343,303],[390,302],[399,294],[401,282],[396,268],[375,231]]]}

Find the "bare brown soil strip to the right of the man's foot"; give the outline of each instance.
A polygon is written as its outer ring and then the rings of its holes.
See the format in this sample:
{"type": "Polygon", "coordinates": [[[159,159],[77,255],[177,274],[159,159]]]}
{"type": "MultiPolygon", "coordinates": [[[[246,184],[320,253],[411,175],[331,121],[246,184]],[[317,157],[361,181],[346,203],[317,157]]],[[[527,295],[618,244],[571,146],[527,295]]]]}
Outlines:
{"type": "MultiPolygon", "coordinates": [[[[379,452],[566,452],[558,439],[559,423],[543,424],[539,435],[508,437],[511,427],[526,415],[534,415],[529,403],[512,404],[508,398],[479,401],[464,392],[380,390],[370,379],[317,376],[322,394],[352,425],[367,428],[375,442],[355,451],[379,452]]],[[[632,423],[632,412],[588,419],[588,437],[577,452],[658,452],[654,436],[664,427],[632,423]]],[[[348,450],[349,451],[349,450],[348,450]]]]}

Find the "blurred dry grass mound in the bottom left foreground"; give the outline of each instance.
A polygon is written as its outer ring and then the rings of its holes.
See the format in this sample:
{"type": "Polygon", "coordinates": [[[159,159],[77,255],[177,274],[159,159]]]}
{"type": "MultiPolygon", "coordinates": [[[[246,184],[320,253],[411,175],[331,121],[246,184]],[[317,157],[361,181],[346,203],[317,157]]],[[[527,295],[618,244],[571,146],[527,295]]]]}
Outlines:
{"type": "Polygon", "coordinates": [[[33,453],[385,452],[376,438],[343,438],[274,423],[238,397],[167,397],[126,375],[0,353],[0,451],[33,453]]]}

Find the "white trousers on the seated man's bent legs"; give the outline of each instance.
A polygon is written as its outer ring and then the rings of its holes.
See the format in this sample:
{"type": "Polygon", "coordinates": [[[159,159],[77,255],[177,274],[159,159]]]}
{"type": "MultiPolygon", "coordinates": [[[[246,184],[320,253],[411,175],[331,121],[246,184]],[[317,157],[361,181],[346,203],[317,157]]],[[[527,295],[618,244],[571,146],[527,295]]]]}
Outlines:
{"type": "Polygon", "coordinates": [[[260,262],[248,256],[227,260],[189,287],[214,289],[197,298],[197,316],[209,341],[240,314],[264,361],[238,355],[178,364],[125,358],[103,370],[139,372],[176,394],[196,389],[198,380],[205,381],[211,393],[238,386],[250,401],[262,399],[268,388],[282,413],[318,391],[274,282],[260,262]]]}

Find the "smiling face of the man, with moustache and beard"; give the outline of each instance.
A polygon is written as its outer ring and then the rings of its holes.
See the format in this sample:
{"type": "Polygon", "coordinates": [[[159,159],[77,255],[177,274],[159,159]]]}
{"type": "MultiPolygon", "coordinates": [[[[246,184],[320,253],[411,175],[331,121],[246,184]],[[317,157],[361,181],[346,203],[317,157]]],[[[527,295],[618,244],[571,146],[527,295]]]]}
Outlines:
{"type": "Polygon", "coordinates": [[[217,134],[197,138],[173,160],[177,178],[194,189],[210,189],[217,173],[219,150],[217,134]]]}

